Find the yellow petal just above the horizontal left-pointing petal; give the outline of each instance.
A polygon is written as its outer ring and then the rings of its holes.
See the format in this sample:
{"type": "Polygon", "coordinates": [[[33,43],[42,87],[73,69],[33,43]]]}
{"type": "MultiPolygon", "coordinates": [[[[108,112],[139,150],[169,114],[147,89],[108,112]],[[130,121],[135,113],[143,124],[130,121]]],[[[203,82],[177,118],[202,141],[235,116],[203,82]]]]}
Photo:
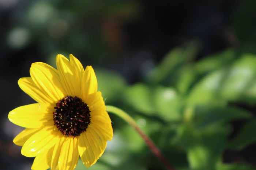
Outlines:
{"type": "MultiPolygon", "coordinates": [[[[18,80],[19,87],[38,103],[53,103],[48,94],[42,92],[31,77],[23,77],[18,80]]],[[[55,103],[54,103],[55,104],[55,103]]]]}

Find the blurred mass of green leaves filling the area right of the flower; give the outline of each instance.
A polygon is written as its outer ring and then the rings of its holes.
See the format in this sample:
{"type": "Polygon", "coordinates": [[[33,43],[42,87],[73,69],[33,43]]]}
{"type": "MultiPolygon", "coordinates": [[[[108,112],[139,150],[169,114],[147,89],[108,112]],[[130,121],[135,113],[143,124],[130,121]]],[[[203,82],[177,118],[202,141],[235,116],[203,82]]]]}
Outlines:
{"type": "MultiPolygon", "coordinates": [[[[237,55],[237,50],[229,48],[195,61],[198,50],[195,41],[174,48],[144,82],[132,85],[124,84],[120,76],[111,74],[105,86],[100,83],[105,78],[97,75],[100,88],[113,93],[118,91],[118,95],[109,92],[108,98],[112,101],[107,99],[106,103],[119,105],[135,119],[144,119],[146,123],[142,129],[177,169],[253,169],[245,163],[223,163],[223,154],[225,150],[241,150],[256,142],[256,119],[248,109],[256,104],[256,55],[237,55]],[[116,84],[120,84],[120,88],[115,88],[116,84]],[[235,121],[245,123],[230,138],[235,121]]],[[[114,117],[114,127],[117,121],[120,120],[114,117]]],[[[133,135],[124,146],[131,145],[133,135]]],[[[132,145],[141,147],[136,141],[132,145]]],[[[135,154],[151,157],[139,149],[135,154]]],[[[143,157],[140,161],[145,161],[143,157]]],[[[145,164],[153,167],[156,161],[145,164]]]]}

